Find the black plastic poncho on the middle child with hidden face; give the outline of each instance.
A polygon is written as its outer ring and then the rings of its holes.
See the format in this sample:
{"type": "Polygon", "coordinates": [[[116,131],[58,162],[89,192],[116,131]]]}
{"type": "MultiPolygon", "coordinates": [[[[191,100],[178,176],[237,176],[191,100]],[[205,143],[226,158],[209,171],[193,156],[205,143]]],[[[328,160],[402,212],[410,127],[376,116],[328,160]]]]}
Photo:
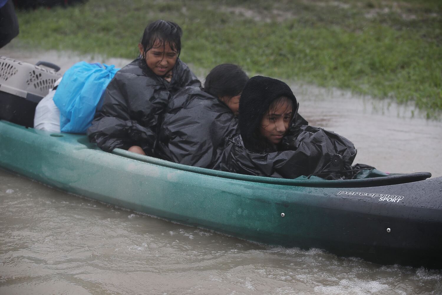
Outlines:
{"type": "Polygon", "coordinates": [[[161,124],[157,157],[210,168],[216,149],[237,131],[238,120],[225,103],[199,88],[187,87],[169,102],[161,124]]]}

